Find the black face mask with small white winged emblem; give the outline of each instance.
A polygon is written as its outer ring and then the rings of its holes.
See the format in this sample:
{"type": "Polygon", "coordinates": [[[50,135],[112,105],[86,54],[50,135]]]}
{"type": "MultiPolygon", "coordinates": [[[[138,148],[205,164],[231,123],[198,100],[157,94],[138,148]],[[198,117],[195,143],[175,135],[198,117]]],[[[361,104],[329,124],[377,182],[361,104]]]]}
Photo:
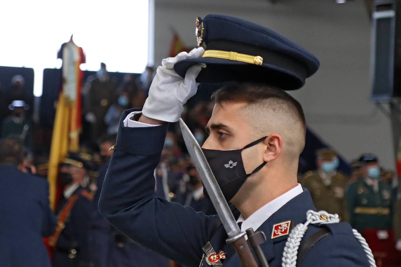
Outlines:
{"type": "MultiPolygon", "coordinates": [[[[239,191],[241,186],[245,183],[247,178],[266,165],[267,162],[263,162],[259,167],[253,170],[252,173],[247,174],[245,172],[244,164],[242,162],[241,151],[249,147],[262,142],[267,137],[256,140],[255,142],[246,145],[243,149],[234,150],[212,150],[202,149],[203,154],[212,169],[213,174],[216,177],[216,181],[219,184],[221,192],[226,201],[229,202],[235,194],[239,191]]],[[[209,198],[205,187],[203,188],[205,197],[209,198]]]]}

